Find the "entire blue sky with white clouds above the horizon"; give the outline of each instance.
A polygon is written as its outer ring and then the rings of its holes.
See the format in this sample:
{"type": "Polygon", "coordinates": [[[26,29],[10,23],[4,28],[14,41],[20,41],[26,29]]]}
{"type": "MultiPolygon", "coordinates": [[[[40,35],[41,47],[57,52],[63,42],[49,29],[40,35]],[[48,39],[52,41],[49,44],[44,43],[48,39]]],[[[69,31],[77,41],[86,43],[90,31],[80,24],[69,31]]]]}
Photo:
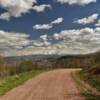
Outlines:
{"type": "Polygon", "coordinates": [[[100,50],[100,0],[0,0],[3,56],[100,50]]]}

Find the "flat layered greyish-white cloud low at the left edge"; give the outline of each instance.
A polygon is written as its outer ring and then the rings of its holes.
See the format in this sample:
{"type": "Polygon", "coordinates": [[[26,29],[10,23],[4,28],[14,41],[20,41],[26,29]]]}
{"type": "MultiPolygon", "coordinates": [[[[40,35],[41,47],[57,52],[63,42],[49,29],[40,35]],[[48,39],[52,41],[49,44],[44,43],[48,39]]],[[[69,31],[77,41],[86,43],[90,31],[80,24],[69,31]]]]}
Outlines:
{"type": "Polygon", "coordinates": [[[29,35],[0,30],[0,49],[20,49],[30,44],[29,35]]]}

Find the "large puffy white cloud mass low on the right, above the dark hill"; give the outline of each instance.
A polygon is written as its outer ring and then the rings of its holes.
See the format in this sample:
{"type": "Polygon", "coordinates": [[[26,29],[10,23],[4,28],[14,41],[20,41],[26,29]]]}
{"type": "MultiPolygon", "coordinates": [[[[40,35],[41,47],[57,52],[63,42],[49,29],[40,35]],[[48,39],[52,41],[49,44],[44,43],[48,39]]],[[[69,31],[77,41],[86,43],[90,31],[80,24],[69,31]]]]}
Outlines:
{"type": "Polygon", "coordinates": [[[82,28],[63,30],[55,33],[53,38],[58,44],[71,49],[73,53],[88,53],[100,49],[100,28],[82,28]]]}

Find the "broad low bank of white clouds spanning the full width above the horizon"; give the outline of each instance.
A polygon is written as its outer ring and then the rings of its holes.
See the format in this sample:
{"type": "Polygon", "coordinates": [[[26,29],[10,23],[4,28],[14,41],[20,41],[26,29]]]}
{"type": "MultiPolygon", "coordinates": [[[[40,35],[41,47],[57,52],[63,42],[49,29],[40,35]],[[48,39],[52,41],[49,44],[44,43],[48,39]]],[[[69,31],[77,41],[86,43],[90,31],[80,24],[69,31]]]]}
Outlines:
{"type": "Polygon", "coordinates": [[[30,39],[25,33],[0,30],[0,51],[5,56],[34,54],[86,54],[100,49],[100,27],[62,30],[30,39]]]}

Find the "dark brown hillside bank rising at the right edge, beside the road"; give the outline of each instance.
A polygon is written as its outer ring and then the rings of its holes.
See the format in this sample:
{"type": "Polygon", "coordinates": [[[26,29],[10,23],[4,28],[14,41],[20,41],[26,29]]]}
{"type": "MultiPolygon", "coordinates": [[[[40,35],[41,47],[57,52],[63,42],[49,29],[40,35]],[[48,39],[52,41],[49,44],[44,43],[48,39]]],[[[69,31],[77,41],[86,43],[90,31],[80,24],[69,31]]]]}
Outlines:
{"type": "Polygon", "coordinates": [[[92,66],[87,70],[83,70],[80,75],[84,79],[84,81],[100,91],[100,64],[92,66]]]}

